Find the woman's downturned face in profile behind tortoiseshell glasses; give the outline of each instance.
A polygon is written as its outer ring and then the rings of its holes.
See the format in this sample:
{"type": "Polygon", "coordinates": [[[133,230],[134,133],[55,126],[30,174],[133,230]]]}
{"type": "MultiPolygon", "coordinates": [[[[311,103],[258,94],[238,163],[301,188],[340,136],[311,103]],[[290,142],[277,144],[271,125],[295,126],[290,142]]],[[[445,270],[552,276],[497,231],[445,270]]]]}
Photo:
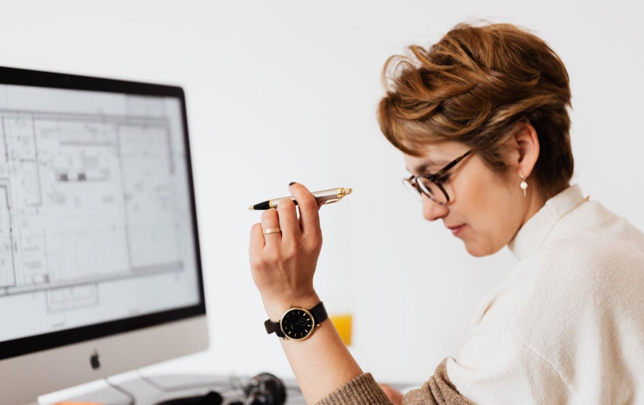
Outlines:
{"type": "MultiPolygon", "coordinates": [[[[433,174],[468,150],[459,142],[440,142],[423,146],[421,156],[404,155],[404,160],[412,174],[433,174]]],[[[439,205],[423,194],[422,215],[428,221],[442,220],[445,231],[460,238],[472,256],[498,252],[529,218],[530,202],[512,166],[506,174],[496,173],[471,153],[446,176],[442,185],[450,202],[439,205]]]]}

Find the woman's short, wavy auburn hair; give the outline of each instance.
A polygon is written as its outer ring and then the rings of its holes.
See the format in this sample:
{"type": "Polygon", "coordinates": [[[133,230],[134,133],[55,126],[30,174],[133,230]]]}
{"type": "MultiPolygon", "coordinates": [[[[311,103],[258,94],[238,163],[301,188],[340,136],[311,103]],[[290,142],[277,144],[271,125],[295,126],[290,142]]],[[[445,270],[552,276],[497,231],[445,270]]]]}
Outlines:
{"type": "Polygon", "coordinates": [[[384,136],[404,153],[451,140],[503,172],[506,141],[519,125],[536,129],[533,176],[546,198],[573,176],[571,106],[564,63],[542,39],[511,24],[458,24],[430,48],[412,45],[390,57],[377,116],[384,136]]]}

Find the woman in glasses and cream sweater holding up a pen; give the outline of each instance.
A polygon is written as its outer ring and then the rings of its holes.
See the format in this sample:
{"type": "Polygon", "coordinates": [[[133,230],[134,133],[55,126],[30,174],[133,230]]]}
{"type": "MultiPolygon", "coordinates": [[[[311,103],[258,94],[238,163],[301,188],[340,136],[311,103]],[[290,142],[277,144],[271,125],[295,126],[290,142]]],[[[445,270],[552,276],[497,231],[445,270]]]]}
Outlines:
{"type": "MultiPolygon", "coordinates": [[[[643,403],[644,235],[569,185],[564,64],[509,24],[461,24],[410,51],[387,62],[391,83],[378,108],[412,173],[406,184],[424,218],[442,220],[469,254],[507,245],[520,264],[482,300],[459,357],[444,359],[403,403],[643,403]]],[[[312,282],[322,241],[316,201],[303,185],[289,190],[299,220],[285,201],[251,230],[267,330],[299,325],[311,334],[282,341],[307,402],[399,402],[324,321],[312,282]],[[316,310],[281,319],[290,306],[316,310]],[[319,323],[312,332],[310,317],[319,323]]]]}

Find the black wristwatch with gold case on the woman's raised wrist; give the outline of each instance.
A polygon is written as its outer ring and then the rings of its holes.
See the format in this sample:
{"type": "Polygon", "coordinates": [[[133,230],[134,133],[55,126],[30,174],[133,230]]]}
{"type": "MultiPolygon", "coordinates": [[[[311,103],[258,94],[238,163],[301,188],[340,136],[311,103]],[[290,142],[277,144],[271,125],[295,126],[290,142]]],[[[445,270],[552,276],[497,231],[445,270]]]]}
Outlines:
{"type": "Polygon", "coordinates": [[[327,310],[322,301],[313,308],[297,308],[291,306],[281,319],[271,321],[267,319],[264,322],[266,332],[276,335],[282,339],[291,339],[294,341],[303,341],[313,334],[313,330],[327,319],[327,310]]]}

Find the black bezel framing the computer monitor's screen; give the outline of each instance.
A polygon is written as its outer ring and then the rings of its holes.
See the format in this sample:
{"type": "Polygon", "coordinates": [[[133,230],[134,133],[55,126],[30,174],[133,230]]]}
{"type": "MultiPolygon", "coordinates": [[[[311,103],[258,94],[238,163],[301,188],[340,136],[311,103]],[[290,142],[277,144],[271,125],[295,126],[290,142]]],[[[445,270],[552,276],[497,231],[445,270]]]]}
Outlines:
{"type": "Polygon", "coordinates": [[[0,84],[14,84],[20,86],[34,86],[42,88],[103,91],[108,93],[122,93],[141,96],[175,97],[180,100],[183,124],[182,126],[184,131],[185,158],[190,190],[191,216],[193,222],[194,248],[197,267],[196,270],[198,273],[199,284],[199,303],[196,305],[0,342],[0,360],[17,357],[19,355],[25,355],[28,353],[40,352],[42,350],[48,350],[60,346],[66,346],[68,344],[80,343],[91,339],[97,339],[99,337],[107,337],[109,335],[116,335],[124,332],[132,332],[150,326],[162,325],[164,323],[178,321],[180,319],[187,319],[205,315],[206,309],[204,296],[204,278],[202,274],[201,252],[198,235],[199,232],[196,217],[196,203],[194,198],[193,167],[188,135],[184,90],[179,86],[170,86],[166,84],[107,79],[104,77],[70,75],[65,73],[55,73],[51,71],[26,70],[19,68],[8,68],[3,66],[0,66],[0,84]]]}

